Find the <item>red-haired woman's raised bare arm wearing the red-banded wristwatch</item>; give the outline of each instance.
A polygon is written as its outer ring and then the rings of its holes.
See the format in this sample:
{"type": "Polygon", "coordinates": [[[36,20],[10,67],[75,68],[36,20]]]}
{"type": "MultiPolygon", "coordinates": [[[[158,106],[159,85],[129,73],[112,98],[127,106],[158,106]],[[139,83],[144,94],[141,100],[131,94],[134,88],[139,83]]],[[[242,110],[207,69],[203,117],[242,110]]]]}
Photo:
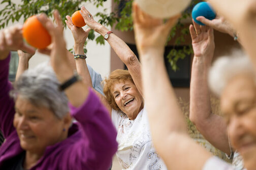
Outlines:
{"type": "MultiPolygon", "coordinates": [[[[85,23],[94,31],[100,33],[104,36],[109,30],[101,25],[100,23],[96,22],[89,11],[85,9],[85,7],[81,8],[82,16],[84,18],[85,23]],[[90,16],[90,17],[89,17],[90,16]]],[[[133,77],[134,83],[142,94],[142,82],[141,82],[141,64],[133,53],[133,51],[124,43],[122,39],[116,36],[114,33],[109,34],[107,39],[111,48],[115,51],[117,56],[122,60],[122,62],[127,66],[130,74],[133,77]]]]}

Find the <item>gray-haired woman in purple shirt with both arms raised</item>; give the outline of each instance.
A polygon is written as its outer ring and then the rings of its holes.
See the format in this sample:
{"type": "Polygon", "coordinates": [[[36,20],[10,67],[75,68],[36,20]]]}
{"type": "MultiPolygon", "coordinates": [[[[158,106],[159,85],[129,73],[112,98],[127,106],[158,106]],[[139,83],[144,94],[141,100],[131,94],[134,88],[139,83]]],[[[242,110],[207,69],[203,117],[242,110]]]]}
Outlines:
{"type": "Polygon", "coordinates": [[[116,151],[107,110],[70,67],[56,11],[54,17],[57,26],[43,14],[38,19],[52,38],[55,73],[44,65],[24,72],[15,82],[14,99],[9,97],[8,54],[33,49],[24,45],[21,27],[1,31],[0,122],[6,138],[0,148],[1,169],[107,169],[116,151]],[[71,125],[71,116],[78,123],[71,125]]]}

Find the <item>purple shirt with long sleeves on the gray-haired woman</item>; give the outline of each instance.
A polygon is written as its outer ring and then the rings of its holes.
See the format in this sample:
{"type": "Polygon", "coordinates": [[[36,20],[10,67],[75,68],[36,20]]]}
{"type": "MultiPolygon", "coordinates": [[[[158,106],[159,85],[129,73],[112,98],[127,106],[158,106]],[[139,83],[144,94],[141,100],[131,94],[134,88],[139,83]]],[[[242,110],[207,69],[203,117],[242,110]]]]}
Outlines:
{"type": "MultiPolygon", "coordinates": [[[[13,126],[14,101],[8,81],[10,55],[0,60],[0,128],[6,141],[0,147],[0,169],[22,153],[13,126]]],[[[48,146],[37,164],[30,169],[108,169],[117,150],[116,130],[106,108],[90,90],[87,100],[79,108],[70,105],[72,116],[78,121],[69,129],[68,138],[48,146]]]]}

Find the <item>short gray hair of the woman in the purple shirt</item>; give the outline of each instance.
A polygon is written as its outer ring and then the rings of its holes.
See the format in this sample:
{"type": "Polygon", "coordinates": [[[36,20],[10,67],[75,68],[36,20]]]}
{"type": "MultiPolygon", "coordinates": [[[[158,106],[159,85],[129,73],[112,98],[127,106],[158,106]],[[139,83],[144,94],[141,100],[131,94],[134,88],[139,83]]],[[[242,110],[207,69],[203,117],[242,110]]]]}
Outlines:
{"type": "Polygon", "coordinates": [[[42,63],[33,69],[26,70],[14,83],[10,95],[28,100],[36,107],[45,106],[57,118],[62,118],[69,112],[68,98],[58,90],[59,81],[47,63],[42,63]]]}

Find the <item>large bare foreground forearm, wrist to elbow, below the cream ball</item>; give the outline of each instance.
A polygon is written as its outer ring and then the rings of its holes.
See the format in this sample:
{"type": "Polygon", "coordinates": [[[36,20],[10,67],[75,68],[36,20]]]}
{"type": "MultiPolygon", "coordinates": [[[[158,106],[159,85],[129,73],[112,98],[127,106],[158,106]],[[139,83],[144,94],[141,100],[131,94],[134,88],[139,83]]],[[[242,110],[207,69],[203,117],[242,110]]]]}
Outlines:
{"type": "Polygon", "coordinates": [[[184,117],[169,81],[163,54],[164,49],[161,51],[151,49],[141,55],[143,91],[150,129],[153,139],[159,142],[173,132],[186,133],[184,117]],[[156,113],[161,113],[161,116],[156,113]]]}

